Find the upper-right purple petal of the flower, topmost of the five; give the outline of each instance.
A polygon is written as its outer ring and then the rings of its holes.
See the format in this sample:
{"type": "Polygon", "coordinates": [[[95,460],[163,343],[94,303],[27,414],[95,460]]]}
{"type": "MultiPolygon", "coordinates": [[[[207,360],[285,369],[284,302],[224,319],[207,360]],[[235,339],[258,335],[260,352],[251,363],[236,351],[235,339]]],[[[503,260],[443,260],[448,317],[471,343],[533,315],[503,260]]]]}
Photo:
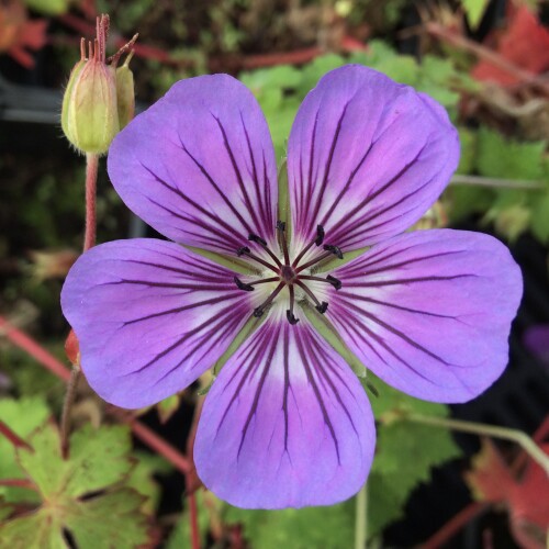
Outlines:
{"type": "Polygon", "coordinates": [[[415,223],[459,159],[446,111],[367,67],[328,72],[303,101],[288,144],[292,221],[300,243],[324,226],[344,251],[415,223]]]}

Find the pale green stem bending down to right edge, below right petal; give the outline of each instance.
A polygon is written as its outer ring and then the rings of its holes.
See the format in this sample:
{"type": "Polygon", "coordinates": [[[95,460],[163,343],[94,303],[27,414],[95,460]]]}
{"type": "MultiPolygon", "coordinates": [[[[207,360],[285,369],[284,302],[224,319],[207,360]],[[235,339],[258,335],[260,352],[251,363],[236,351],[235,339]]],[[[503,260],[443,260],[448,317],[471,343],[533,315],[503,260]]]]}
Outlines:
{"type": "Polygon", "coordinates": [[[470,433],[472,435],[485,435],[494,438],[511,440],[519,445],[524,451],[537,461],[549,474],[549,457],[544,450],[524,432],[511,429],[508,427],[497,427],[495,425],[486,425],[484,423],[464,422],[461,419],[448,419],[446,417],[432,417],[422,414],[406,414],[405,419],[414,423],[423,423],[424,425],[433,425],[436,427],[445,427],[447,429],[459,430],[461,433],[470,433]]]}

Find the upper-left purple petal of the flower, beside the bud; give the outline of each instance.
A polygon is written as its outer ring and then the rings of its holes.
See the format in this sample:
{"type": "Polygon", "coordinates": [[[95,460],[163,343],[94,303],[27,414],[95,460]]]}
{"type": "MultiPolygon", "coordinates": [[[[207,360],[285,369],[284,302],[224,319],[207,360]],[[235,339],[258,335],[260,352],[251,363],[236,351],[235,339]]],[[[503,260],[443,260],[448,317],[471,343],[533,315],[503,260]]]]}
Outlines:
{"type": "Polygon", "coordinates": [[[227,75],[172,86],[115,137],[109,175],[127,206],[172,240],[232,254],[249,233],[274,242],[269,128],[227,75]]]}

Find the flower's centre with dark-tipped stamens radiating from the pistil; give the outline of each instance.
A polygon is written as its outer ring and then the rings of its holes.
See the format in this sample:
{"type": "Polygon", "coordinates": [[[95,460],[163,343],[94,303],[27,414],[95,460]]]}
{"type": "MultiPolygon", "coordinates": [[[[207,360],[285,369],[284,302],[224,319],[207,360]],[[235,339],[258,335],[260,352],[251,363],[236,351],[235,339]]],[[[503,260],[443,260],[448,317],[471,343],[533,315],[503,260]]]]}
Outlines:
{"type": "Polygon", "coordinates": [[[273,303],[279,293],[282,292],[282,290],[288,289],[290,300],[285,316],[290,324],[298,324],[298,322],[300,321],[294,315],[296,288],[299,288],[300,292],[305,299],[309,299],[314,303],[314,307],[316,309],[316,311],[318,311],[318,313],[324,314],[328,309],[328,303],[326,301],[321,301],[315,295],[313,290],[310,288],[311,282],[325,282],[332,284],[336,290],[339,290],[341,288],[341,281],[333,277],[332,274],[323,278],[309,274],[309,272],[311,267],[314,267],[318,262],[327,259],[328,257],[332,257],[333,255],[335,255],[338,259],[343,259],[341,250],[338,246],[324,244],[324,254],[321,254],[320,256],[309,261],[303,261],[303,258],[305,257],[307,251],[313,248],[313,246],[321,246],[324,243],[324,228],[322,225],[317,225],[316,237],[306,246],[304,246],[303,249],[295,256],[295,259],[293,259],[292,261],[290,259],[290,253],[288,249],[285,223],[279,221],[277,223],[277,232],[280,243],[280,249],[282,251],[282,259],[279,259],[277,254],[274,254],[273,250],[269,248],[267,242],[264,238],[254,234],[248,235],[248,240],[262,248],[264,251],[267,253],[269,258],[272,259],[272,262],[269,259],[264,259],[264,257],[259,257],[258,255],[254,254],[248,246],[243,246],[242,248],[238,248],[236,250],[239,257],[244,256],[253,261],[262,265],[268,269],[267,272],[272,272],[272,276],[259,278],[248,283],[243,282],[238,277],[234,277],[235,284],[239,290],[243,290],[245,292],[254,291],[256,289],[256,285],[258,284],[276,284],[270,295],[254,310],[254,316],[256,317],[262,316],[265,311],[273,303]]]}

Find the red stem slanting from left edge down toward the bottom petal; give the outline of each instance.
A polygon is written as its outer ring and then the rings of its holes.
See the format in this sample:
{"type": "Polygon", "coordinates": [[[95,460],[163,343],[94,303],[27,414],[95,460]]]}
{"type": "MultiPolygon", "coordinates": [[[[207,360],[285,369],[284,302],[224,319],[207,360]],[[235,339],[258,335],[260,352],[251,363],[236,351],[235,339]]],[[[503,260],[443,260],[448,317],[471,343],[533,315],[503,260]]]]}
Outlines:
{"type": "MultiPolygon", "coordinates": [[[[13,345],[35,358],[40,365],[45,367],[52,373],[63,379],[64,381],[68,381],[70,379],[70,371],[63,362],[57,360],[57,358],[55,358],[46,349],[41,347],[26,334],[11,326],[11,324],[8,323],[8,321],[5,321],[2,316],[0,316],[0,330],[13,345]]],[[[141,422],[136,421],[133,417],[127,417],[127,413],[125,413],[123,410],[111,406],[109,408],[109,413],[122,419],[124,423],[127,423],[137,438],[139,438],[144,444],[158,452],[160,456],[166,458],[167,461],[169,461],[183,474],[187,474],[192,469],[189,460],[181,452],[179,452],[177,448],[164,440],[155,432],[143,425],[141,422]]]]}

